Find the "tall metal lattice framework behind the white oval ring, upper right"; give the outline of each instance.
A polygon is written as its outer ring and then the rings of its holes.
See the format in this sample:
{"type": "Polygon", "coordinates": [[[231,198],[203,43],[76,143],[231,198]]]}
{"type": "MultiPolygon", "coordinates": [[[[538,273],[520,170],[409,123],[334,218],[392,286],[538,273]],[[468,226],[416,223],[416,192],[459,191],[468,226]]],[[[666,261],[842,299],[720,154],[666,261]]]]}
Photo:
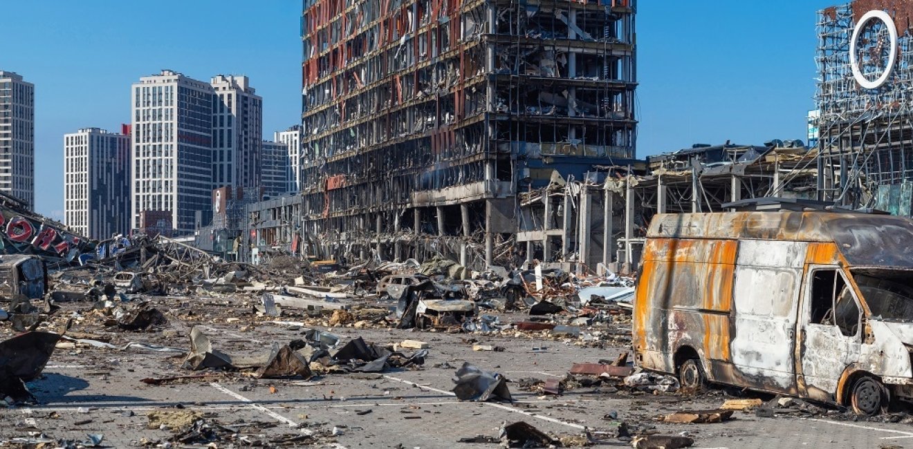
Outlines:
{"type": "MultiPolygon", "coordinates": [[[[913,5],[908,1],[856,0],[818,12],[817,126],[818,199],[845,206],[881,207],[891,185],[913,181],[913,5]],[[897,27],[897,61],[886,24],[860,19],[886,10],[897,27]],[[893,70],[887,82],[864,89],[853,75],[851,41],[855,27],[857,68],[867,80],[893,70]]],[[[907,208],[909,209],[909,208],[907,208]]]]}

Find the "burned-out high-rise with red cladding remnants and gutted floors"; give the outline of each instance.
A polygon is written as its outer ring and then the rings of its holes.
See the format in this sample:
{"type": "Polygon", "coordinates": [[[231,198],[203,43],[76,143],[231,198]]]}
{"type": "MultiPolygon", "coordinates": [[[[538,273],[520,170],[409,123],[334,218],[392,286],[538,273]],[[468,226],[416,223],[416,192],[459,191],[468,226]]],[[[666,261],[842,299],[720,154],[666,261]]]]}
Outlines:
{"type": "Polygon", "coordinates": [[[474,266],[509,255],[518,193],[635,156],[635,10],[305,0],[309,251],[474,266]]]}

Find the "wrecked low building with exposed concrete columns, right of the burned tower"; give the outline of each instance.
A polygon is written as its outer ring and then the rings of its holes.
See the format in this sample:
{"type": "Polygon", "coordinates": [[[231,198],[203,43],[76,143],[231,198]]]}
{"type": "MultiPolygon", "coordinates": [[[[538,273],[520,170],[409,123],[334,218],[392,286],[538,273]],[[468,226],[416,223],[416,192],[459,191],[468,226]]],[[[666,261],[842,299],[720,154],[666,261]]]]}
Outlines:
{"type": "Polygon", "coordinates": [[[765,197],[808,200],[816,152],[802,141],[694,145],[602,167],[567,182],[555,177],[520,194],[517,240],[527,262],[578,273],[636,267],[655,214],[726,212],[765,197]]]}

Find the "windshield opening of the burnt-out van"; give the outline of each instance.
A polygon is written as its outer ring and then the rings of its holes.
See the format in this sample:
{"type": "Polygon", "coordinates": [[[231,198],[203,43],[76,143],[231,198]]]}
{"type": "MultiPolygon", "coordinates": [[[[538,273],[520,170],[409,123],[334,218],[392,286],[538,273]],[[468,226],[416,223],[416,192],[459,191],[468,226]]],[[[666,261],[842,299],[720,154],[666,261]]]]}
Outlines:
{"type": "Polygon", "coordinates": [[[872,312],[870,318],[884,321],[913,321],[913,272],[853,270],[853,278],[872,312]]]}

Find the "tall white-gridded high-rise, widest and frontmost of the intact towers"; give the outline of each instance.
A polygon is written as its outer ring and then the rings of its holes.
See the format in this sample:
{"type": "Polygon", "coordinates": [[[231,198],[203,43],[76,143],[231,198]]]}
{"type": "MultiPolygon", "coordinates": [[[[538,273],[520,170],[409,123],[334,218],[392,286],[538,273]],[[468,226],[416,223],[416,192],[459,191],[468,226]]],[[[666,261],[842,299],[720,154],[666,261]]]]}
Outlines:
{"type": "Polygon", "coordinates": [[[213,87],[172,70],[131,89],[131,227],[194,231],[208,223],[213,191],[213,87]],[[208,211],[208,212],[207,212],[208,211]]]}

